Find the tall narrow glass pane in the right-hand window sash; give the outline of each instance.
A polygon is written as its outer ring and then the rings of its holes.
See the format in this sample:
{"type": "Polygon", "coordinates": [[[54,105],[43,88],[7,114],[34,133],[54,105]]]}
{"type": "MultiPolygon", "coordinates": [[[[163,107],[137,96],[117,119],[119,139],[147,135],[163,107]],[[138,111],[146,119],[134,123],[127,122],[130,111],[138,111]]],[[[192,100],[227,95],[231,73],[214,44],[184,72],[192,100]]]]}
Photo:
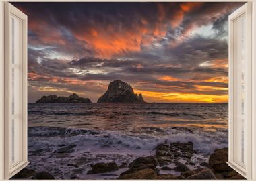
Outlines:
{"type": "Polygon", "coordinates": [[[234,21],[234,42],[235,42],[235,97],[234,100],[236,109],[234,127],[238,133],[234,135],[235,149],[236,149],[236,162],[245,164],[245,15],[239,17],[234,21]]]}

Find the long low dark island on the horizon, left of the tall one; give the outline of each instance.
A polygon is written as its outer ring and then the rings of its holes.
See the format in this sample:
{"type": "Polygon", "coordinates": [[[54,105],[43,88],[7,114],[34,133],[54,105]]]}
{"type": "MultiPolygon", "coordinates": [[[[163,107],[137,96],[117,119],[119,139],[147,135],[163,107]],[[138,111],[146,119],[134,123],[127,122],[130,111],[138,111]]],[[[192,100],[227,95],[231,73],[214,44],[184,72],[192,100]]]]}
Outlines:
{"type": "Polygon", "coordinates": [[[92,103],[92,101],[89,98],[79,97],[73,93],[69,97],[57,95],[43,96],[36,103],[92,103]]]}

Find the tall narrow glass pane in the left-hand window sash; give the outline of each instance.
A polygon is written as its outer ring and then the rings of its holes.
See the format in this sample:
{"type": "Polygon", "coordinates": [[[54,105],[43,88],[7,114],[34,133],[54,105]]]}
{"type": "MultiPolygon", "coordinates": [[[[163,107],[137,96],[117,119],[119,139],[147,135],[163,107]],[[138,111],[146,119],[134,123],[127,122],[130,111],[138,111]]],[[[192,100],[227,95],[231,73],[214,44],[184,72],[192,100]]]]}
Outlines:
{"type": "Polygon", "coordinates": [[[21,100],[22,100],[22,87],[21,87],[21,68],[20,62],[22,54],[21,48],[21,34],[20,34],[20,19],[15,16],[11,17],[11,164],[14,166],[16,163],[20,162],[20,146],[22,141],[22,135],[20,128],[22,127],[22,117],[21,117],[21,100]]]}

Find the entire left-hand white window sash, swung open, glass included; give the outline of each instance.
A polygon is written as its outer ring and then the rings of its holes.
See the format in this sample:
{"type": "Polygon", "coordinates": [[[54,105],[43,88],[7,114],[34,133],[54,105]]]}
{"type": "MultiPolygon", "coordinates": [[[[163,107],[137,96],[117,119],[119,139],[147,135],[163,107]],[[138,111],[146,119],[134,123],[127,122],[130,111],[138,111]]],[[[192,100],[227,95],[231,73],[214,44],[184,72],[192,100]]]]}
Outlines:
{"type": "Polygon", "coordinates": [[[5,3],[5,178],[27,159],[27,16],[5,3]]]}

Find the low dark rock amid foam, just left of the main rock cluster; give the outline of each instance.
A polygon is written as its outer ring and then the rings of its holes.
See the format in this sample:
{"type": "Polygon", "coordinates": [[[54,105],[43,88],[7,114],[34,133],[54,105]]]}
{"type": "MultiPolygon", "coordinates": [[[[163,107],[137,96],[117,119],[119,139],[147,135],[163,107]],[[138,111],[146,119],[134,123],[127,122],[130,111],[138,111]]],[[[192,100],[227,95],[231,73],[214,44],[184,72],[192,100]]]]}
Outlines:
{"type": "Polygon", "coordinates": [[[98,163],[92,165],[92,170],[89,170],[87,174],[98,174],[98,173],[105,173],[105,172],[112,172],[118,170],[118,166],[115,162],[110,163],[98,163]]]}

